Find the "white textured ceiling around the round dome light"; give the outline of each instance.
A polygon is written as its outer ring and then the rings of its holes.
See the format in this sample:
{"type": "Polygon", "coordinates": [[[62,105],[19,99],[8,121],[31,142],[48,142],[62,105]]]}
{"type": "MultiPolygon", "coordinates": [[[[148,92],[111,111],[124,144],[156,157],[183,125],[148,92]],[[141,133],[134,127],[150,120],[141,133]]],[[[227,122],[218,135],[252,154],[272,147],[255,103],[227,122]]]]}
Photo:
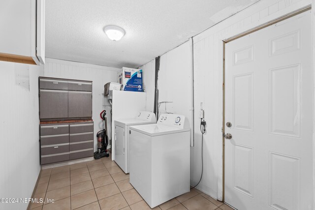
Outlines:
{"type": "Polygon", "coordinates": [[[46,57],[138,67],[258,0],[46,0],[46,57]],[[120,41],[103,28],[126,31],[120,41]]]}

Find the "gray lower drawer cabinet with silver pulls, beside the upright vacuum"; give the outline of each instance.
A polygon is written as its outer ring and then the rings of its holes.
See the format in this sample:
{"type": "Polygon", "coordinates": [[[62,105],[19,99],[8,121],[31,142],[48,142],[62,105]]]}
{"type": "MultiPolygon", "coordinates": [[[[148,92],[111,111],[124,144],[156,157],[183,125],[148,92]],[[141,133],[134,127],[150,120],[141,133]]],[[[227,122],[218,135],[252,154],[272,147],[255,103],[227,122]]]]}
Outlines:
{"type": "Polygon", "coordinates": [[[93,121],[41,124],[41,164],[92,157],[93,130],[93,121]]]}

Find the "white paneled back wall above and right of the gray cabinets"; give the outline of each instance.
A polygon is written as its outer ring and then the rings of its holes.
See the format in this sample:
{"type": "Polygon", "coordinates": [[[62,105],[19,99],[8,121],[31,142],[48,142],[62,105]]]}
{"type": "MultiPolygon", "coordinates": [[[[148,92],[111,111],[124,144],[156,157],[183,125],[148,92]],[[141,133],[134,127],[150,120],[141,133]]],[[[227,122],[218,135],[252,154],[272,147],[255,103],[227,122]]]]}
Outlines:
{"type": "Polygon", "coordinates": [[[108,125],[108,138],[111,139],[111,106],[107,97],[105,98],[104,85],[108,82],[117,81],[117,71],[119,68],[65,61],[46,58],[44,67],[44,77],[56,77],[76,80],[93,81],[93,108],[92,119],[94,120],[94,150],[96,151],[96,133],[103,129],[103,122],[99,118],[99,113],[105,109],[108,125]]]}

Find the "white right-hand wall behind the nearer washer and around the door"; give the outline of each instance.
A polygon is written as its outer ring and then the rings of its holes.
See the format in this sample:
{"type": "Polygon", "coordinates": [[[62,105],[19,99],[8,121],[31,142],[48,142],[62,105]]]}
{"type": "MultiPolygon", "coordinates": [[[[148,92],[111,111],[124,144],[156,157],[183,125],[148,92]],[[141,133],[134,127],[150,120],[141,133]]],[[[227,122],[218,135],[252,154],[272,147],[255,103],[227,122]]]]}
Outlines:
{"type": "MultiPolygon", "coordinates": [[[[190,150],[191,184],[201,173],[201,134],[198,113],[202,102],[207,121],[204,135],[204,171],[198,189],[222,200],[222,82],[223,42],[285,14],[311,4],[312,0],[260,0],[247,9],[193,37],[194,64],[194,147],[190,150]]],[[[188,112],[188,92],[180,90],[189,81],[188,42],[161,56],[158,75],[159,102],[173,101],[166,112],[188,112]],[[186,60],[182,59],[186,55],[186,60]],[[182,62],[182,63],[181,63],[182,62]],[[179,84],[179,85],[175,85],[179,84]],[[187,94],[185,94],[187,92],[187,94]],[[176,103],[175,103],[176,102],[176,103]],[[183,107],[179,107],[182,104],[183,107]]],[[[160,111],[164,107],[160,106],[160,111]]],[[[163,112],[163,111],[162,111],[163,112]]],[[[186,114],[184,114],[186,115],[186,114]]]]}

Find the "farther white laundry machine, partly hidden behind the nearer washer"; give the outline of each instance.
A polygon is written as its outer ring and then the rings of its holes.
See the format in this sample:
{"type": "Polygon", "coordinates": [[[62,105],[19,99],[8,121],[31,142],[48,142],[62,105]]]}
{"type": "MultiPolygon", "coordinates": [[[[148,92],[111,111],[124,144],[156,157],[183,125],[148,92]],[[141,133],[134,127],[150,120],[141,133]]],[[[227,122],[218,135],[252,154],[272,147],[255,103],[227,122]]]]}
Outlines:
{"type": "Polygon", "coordinates": [[[130,125],[152,124],[156,123],[156,115],[153,112],[139,112],[134,119],[121,119],[115,120],[115,162],[127,174],[129,173],[128,167],[128,133],[130,125]]]}

